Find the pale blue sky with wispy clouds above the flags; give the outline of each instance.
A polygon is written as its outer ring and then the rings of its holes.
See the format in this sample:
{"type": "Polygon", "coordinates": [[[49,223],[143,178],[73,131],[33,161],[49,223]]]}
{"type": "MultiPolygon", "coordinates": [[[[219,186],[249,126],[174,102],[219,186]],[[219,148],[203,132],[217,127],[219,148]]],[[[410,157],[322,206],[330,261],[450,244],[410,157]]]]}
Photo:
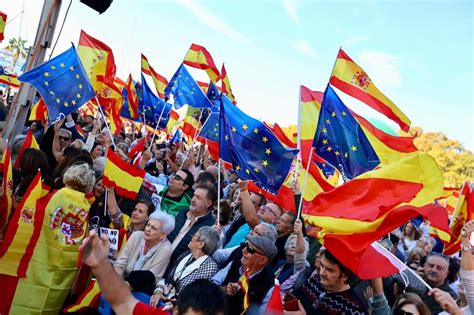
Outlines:
{"type": "MultiPolygon", "coordinates": [[[[54,40],[69,3],[62,1],[54,40]]],[[[0,0],[10,21],[0,46],[16,36],[32,45],[42,5],[0,0]]],[[[139,79],[144,53],[170,79],[196,43],[219,69],[225,62],[244,112],[287,126],[298,121],[299,86],[324,91],[342,47],[412,126],[441,131],[474,151],[473,11],[469,0],[115,0],[99,15],[72,1],[53,56],[77,45],[83,29],[112,48],[120,78],[139,79]]],[[[192,74],[208,80],[204,72],[192,74]]],[[[397,129],[338,95],[356,112],[397,129]]]]}

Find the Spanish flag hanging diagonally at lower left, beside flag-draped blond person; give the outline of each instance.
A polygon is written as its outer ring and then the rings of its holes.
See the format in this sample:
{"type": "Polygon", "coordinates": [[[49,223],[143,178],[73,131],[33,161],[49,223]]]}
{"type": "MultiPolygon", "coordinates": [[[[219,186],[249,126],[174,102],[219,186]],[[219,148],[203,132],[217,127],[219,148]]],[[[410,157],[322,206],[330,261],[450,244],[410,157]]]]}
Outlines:
{"type": "Polygon", "coordinates": [[[41,173],[35,176],[18,209],[13,213],[0,245],[0,274],[24,278],[43,224],[44,208],[37,201],[45,195],[41,173]]]}

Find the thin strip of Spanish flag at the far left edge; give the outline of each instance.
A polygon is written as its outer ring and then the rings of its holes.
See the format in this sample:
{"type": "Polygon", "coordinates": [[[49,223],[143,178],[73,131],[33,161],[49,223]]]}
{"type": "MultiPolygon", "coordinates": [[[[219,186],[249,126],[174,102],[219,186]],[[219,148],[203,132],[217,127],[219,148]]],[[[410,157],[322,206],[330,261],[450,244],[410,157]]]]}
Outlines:
{"type": "Polygon", "coordinates": [[[10,148],[8,142],[6,143],[5,152],[2,156],[3,165],[3,211],[0,212],[0,234],[5,229],[8,220],[10,219],[12,206],[13,206],[13,171],[12,171],[12,160],[10,155],[10,148]]]}

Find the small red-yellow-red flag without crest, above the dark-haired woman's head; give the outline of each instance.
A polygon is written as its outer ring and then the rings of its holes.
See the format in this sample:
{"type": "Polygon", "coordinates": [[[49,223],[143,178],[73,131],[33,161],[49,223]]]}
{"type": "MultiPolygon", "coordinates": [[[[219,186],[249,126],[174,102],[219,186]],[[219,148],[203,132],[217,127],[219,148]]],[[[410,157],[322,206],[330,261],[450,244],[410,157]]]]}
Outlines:
{"type": "Polygon", "coordinates": [[[144,178],[145,170],[136,169],[112,150],[107,151],[103,179],[105,186],[114,187],[123,197],[135,199],[144,178]]]}

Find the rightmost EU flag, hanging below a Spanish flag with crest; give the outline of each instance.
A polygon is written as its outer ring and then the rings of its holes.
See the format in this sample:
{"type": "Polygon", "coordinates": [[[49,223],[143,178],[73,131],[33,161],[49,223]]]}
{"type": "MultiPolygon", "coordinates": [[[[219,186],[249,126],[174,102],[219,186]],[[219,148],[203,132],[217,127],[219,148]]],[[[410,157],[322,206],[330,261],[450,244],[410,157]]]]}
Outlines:
{"type": "Polygon", "coordinates": [[[339,170],[344,180],[380,163],[359,123],[329,84],[321,103],[313,147],[316,154],[339,170]]]}

